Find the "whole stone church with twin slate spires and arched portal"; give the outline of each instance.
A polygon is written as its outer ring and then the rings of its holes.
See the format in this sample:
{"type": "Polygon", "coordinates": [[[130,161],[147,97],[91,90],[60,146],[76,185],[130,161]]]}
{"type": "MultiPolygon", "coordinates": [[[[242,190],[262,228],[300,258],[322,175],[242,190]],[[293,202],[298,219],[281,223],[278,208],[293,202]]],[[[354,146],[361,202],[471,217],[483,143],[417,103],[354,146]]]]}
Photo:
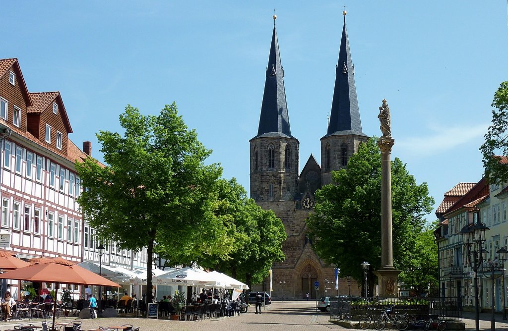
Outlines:
{"type": "MultiPolygon", "coordinates": [[[[331,183],[331,172],[346,166],[347,159],[369,139],[363,133],[355,87],[355,67],[351,61],[345,24],[336,67],[335,87],[328,131],[321,138],[321,162],[312,155],[300,171],[299,141],[291,135],[289,112],[284,90],[275,21],[258,134],[250,139],[250,196],[266,210],[273,210],[282,220],[288,239],[283,244],[285,260],[273,265],[272,296],[305,300],[316,296],[347,294],[344,278],[335,287],[335,267],[327,266],[314,253],[306,237],[305,219],[312,213],[314,193],[331,183]],[[328,280],[328,282],[327,282],[328,280]],[[319,289],[315,289],[315,282],[319,289]],[[325,291],[326,289],[326,291],[325,291]]],[[[274,16],[274,20],[276,16],[274,16]]],[[[323,113],[327,110],[323,110],[323,113]]],[[[297,119],[298,120],[298,119],[297,119]]],[[[303,118],[300,120],[304,120],[303,118]]],[[[340,275],[342,277],[345,275],[340,275]]],[[[266,290],[256,287],[255,290],[266,290]]],[[[356,284],[351,294],[358,294],[356,284]]]]}

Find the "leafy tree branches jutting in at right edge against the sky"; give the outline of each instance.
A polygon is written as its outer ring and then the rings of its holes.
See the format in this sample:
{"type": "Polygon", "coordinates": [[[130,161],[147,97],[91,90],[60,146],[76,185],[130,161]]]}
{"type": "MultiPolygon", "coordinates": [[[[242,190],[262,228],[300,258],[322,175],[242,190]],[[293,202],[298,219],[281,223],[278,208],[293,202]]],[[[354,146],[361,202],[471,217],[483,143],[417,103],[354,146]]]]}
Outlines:
{"type": "Polygon", "coordinates": [[[485,174],[491,183],[508,182],[508,162],[499,156],[508,156],[508,82],[502,82],[494,93],[491,107],[492,124],[480,147],[485,174]]]}

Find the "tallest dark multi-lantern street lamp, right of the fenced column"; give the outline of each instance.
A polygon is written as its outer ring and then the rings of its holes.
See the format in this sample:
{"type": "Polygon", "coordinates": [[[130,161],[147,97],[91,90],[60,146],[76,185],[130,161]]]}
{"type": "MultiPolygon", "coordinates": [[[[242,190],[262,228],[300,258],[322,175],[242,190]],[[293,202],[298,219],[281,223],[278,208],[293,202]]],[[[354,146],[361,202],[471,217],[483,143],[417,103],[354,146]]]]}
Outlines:
{"type": "MultiPolygon", "coordinates": [[[[478,215],[480,213],[478,212],[478,215]]],[[[483,248],[485,243],[485,231],[489,228],[478,221],[473,226],[466,225],[462,228],[462,242],[467,249],[467,262],[474,272],[474,319],[475,328],[480,330],[480,315],[478,307],[478,269],[486,260],[487,250],[483,248]]]]}

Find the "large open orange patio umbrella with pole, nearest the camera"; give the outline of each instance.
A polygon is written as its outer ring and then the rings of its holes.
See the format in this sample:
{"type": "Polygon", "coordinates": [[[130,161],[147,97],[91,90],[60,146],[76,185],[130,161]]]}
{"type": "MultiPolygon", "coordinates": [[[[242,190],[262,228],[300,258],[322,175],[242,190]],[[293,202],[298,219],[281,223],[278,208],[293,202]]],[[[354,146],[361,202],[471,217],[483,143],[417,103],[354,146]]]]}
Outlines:
{"type": "MultiPolygon", "coordinates": [[[[79,285],[101,285],[120,287],[120,285],[86,270],[76,262],[61,257],[45,258],[35,264],[17,270],[8,271],[0,278],[19,279],[32,282],[63,283],[79,285]]],[[[58,287],[55,289],[55,300],[58,287]]],[[[55,326],[56,302],[53,307],[53,328],[55,326]]]]}

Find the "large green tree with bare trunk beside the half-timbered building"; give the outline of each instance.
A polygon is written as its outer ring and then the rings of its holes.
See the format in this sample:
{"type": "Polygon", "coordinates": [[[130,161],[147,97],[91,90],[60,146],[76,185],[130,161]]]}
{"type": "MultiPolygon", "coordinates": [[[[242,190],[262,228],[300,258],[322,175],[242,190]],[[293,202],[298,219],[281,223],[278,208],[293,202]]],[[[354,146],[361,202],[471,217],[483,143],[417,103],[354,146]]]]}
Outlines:
{"type": "Polygon", "coordinates": [[[175,103],[158,116],[128,106],[120,125],[123,135],[97,134],[107,166],[90,157],[76,163],[86,187],[78,203],[97,235],[123,249],[147,247],[147,288],[154,245],[170,256],[226,256],[223,224],[211,213],[221,168],[204,164],[211,151],[187,128],[175,103]]]}

